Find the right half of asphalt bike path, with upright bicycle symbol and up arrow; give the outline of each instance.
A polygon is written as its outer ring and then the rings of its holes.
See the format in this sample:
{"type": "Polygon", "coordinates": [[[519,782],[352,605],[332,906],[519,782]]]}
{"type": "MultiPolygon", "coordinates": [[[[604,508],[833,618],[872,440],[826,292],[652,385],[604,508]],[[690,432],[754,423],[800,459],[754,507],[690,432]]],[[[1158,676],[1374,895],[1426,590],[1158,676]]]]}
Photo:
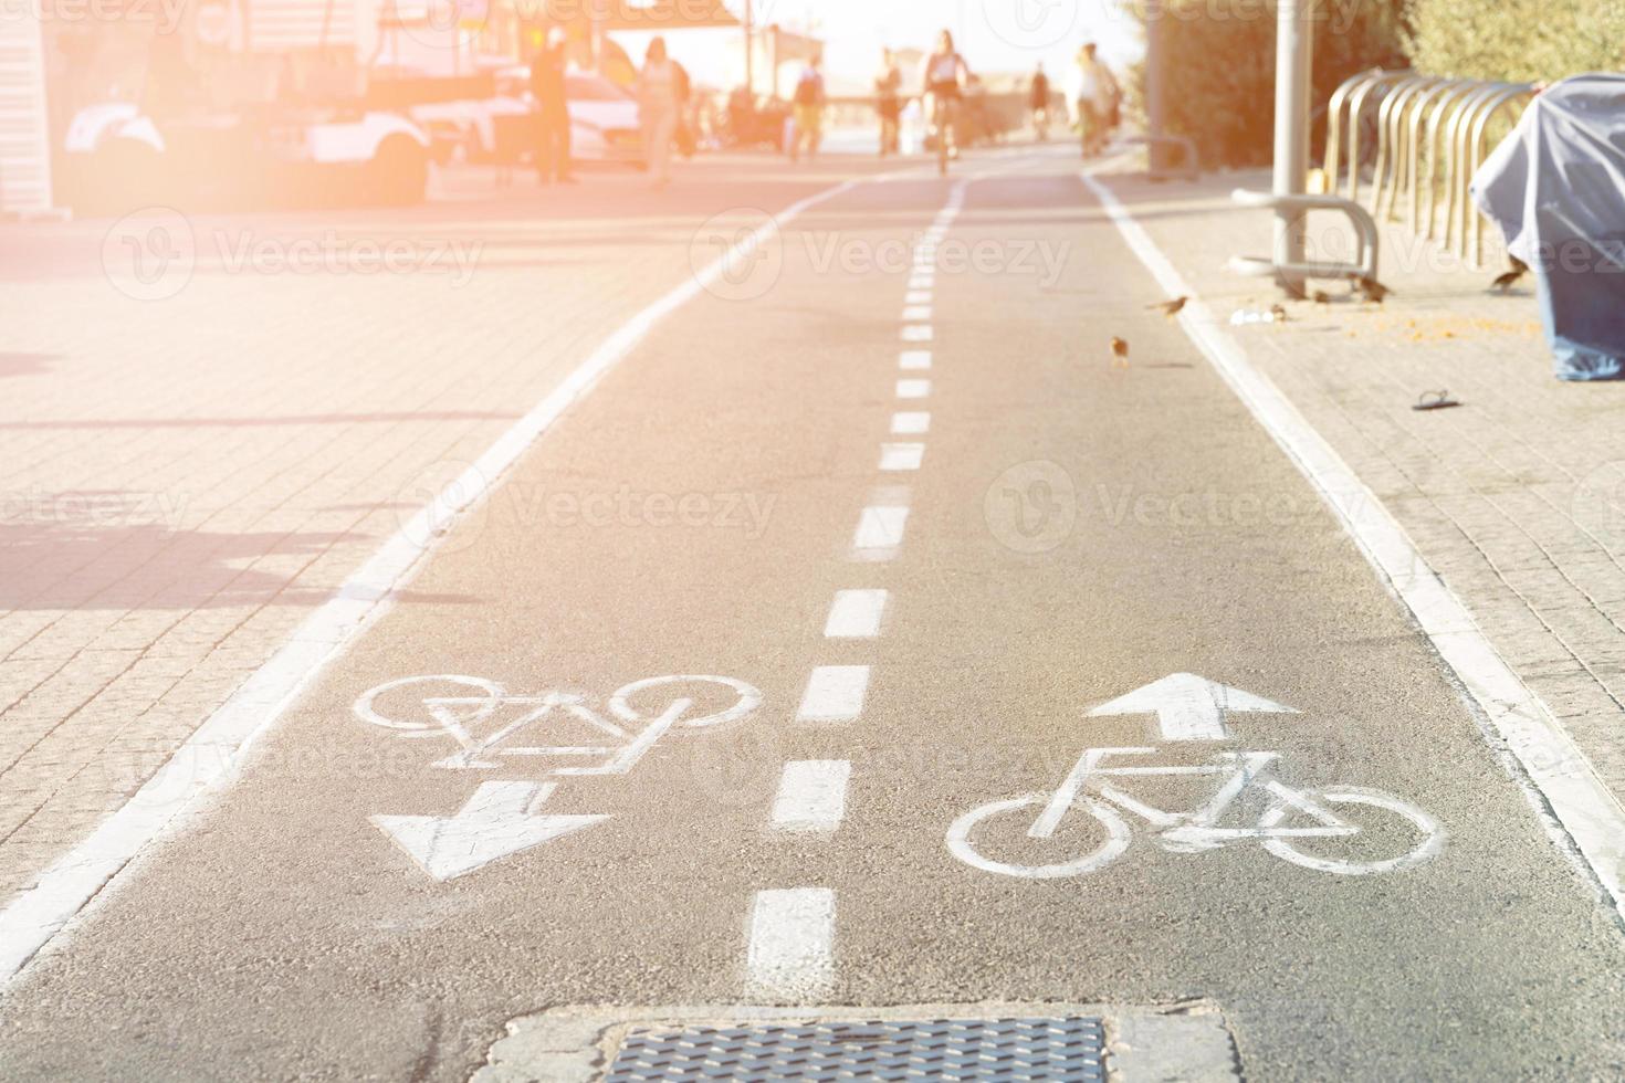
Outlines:
{"type": "Polygon", "coordinates": [[[1251,1078],[1617,1075],[1610,909],[1071,164],[956,235],[1069,257],[938,289],[842,1000],[1193,1000],[1251,1078]]]}

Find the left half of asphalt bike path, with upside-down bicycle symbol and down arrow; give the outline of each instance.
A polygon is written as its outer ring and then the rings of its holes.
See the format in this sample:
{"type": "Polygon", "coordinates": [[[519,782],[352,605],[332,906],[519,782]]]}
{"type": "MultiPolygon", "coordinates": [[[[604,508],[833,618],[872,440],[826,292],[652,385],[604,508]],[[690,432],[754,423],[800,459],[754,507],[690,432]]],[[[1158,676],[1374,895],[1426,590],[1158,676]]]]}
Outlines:
{"type": "MultiPolygon", "coordinates": [[[[869,373],[949,193],[858,185],[658,325],[36,961],[6,1075],[465,1078],[541,1003],[741,1000],[757,893],[817,883],[843,742],[796,714],[837,591],[884,619],[894,516],[860,526],[910,451],[869,373]]],[[[767,226],[725,213],[697,266],[767,226]]]]}

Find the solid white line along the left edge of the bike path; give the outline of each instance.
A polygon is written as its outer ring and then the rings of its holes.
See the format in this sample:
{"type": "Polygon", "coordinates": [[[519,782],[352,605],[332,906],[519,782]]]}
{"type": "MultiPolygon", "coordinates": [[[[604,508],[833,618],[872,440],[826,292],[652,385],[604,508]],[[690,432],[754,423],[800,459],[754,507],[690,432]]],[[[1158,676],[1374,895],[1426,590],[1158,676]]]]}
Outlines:
{"type": "Polygon", "coordinates": [[[398,591],[421,570],[424,555],[450,533],[458,516],[484,500],[536,438],[587,396],[656,323],[702,296],[725,271],[744,265],[752,252],[777,239],[785,224],[860,183],[847,180],[791,203],[697,274],[684,276],[681,284],[609,334],[457,481],[385,541],[276,654],[182,742],[146,784],[102,820],[89,838],[58,857],[32,887],[13,896],[0,913],[0,986],[10,982],[132,857],[166,830],[184,825],[187,817],[177,813],[187,810],[190,817],[198,812],[188,807],[195,799],[223,787],[247,747],[276,724],[327,664],[388,612],[398,591]]]}

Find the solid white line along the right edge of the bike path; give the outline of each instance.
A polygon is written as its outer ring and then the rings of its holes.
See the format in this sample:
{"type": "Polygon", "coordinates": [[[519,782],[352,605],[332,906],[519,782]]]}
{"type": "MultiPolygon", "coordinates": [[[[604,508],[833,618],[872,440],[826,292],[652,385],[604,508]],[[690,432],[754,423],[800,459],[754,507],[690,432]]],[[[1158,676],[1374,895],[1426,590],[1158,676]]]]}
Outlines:
{"type": "Polygon", "coordinates": [[[1123,239],[1168,297],[1190,297],[1180,312],[1185,333],[1207,356],[1237,398],[1320,489],[1365,559],[1415,614],[1422,632],[1477,701],[1493,734],[1487,742],[1516,758],[1510,773],[1524,786],[1552,839],[1583,861],[1625,917],[1625,810],[1547,705],[1532,693],[1479,630],[1472,612],[1427,563],[1406,529],[1342,456],[1298,412],[1269,377],[1253,367],[1242,344],[1185,283],[1133,214],[1098,180],[1084,174],[1123,239]],[[1531,787],[1539,792],[1529,792],[1531,787]],[[1557,822],[1542,812],[1550,807],[1557,822]],[[1565,836],[1566,831],[1566,836],[1565,836]],[[1578,854],[1576,849],[1578,848],[1578,854]]]}

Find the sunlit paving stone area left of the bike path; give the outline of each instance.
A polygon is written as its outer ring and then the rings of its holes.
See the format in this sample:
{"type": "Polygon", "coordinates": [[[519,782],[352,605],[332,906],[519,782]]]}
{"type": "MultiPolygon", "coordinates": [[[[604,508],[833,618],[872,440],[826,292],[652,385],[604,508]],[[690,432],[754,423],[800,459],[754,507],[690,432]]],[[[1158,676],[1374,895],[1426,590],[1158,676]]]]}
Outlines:
{"type": "Polygon", "coordinates": [[[450,180],[408,211],[0,226],[0,904],[691,274],[700,222],[835,177],[450,180]]]}

